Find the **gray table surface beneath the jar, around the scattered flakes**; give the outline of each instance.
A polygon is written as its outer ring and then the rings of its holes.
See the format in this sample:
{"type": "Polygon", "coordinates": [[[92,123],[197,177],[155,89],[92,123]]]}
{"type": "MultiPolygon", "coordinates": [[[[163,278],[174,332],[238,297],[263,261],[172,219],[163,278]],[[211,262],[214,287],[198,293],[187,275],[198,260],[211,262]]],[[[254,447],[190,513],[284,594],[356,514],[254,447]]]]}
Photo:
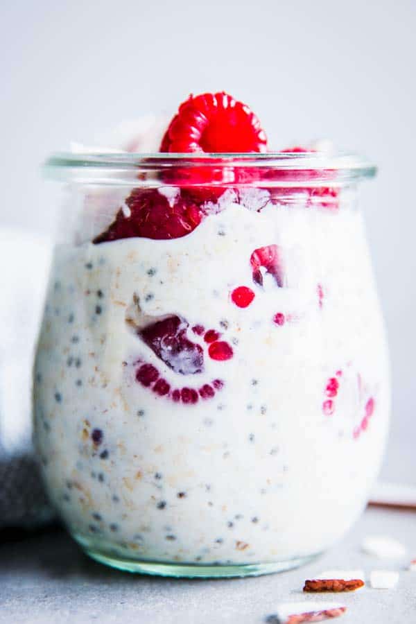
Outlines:
{"type": "MultiPolygon", "coordinates": [[[[130,575],[85,557],[62,530],[0,544],[0,623],[255,624],[279,602],[340,600],[339,622],[416,623],[416,512],[368,508],[349,535],[303,568],[259,578],[175,580],[130,575]],[[366,535],[396,537],[408,549],[397,562],[360,550],[366,535]],[[365,587],[343,595],[305,596],[302,584],[325,569],[401,570],[397,589],[365,587]]],[[[336,620],[338,622],[338,620],[336,620]]]]}

